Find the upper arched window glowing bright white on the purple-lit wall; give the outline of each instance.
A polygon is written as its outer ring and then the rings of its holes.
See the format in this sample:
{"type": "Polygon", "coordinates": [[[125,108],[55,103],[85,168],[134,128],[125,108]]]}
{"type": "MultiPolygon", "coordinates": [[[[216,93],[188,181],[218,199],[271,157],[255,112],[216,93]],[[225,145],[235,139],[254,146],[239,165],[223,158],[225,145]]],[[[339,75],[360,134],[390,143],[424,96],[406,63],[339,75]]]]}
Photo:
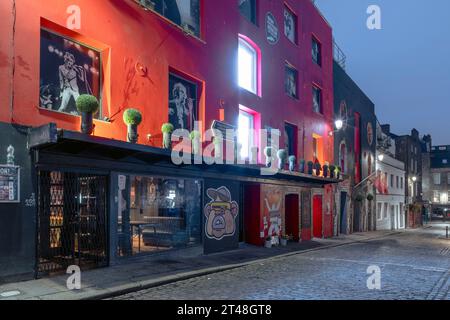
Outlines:
{"type": "Polygon", "coordinates": [[[239,39],[239,86],[254,94],[257,93],[257,60],[258,55],[256,54],[256,50],[245,40],[239,39]]]}

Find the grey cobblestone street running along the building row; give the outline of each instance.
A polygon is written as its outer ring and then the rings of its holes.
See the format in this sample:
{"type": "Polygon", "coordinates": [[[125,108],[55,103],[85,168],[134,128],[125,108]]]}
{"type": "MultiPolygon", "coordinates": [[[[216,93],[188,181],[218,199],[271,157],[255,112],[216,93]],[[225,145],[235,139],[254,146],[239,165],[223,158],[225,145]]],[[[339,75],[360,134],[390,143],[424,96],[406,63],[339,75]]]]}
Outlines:
{"type": "Polygon", "coordinates": [[[115,299],[450,299],[445,227],[316,250],[143,290],[115,299]],[[369,290],[367,269],[381,269],[369,290]]]}

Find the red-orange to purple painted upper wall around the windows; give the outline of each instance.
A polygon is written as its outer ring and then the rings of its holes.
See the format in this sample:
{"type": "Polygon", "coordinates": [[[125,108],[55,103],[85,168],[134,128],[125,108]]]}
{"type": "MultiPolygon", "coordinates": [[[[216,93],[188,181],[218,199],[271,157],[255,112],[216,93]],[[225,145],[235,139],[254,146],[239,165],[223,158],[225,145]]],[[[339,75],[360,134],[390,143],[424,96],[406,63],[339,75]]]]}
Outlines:
{"type": "MultiPolygon", "coordinates": [[[[16,0],[13,34],[13,1],[1,1],[0,102],[8,108],[2,108],[0,121],[31,126],[56,122],[60,128],[79,129],[79,117],[38,108],[40,28],[46,26],[103,52],[103,109],[109,116],[121,108],[140,109],[144,114],[139,128],[141,144],[160,145],[160,127],[168,120],[168,73],[169,69],[175,69],[203,84],[200,116],[206,127],[219,119],[221,105],[225,121],[236,124],[242,104],[261,114],[262,127],[280,128],[283,133],[285,121],[297,125],[300,158],[312,158],[312,135],[322,135],[325,160],[331,162],[333,141],[328,136],[333,112],[331,28],[310,0],[286,3],[298,15],[298,45],[284,36],[282,1],[260,0],[259,26],[255,26],[240,15],[235,0],[203,0],[202,40],[184,35],[179,28],[153,12],[144,11],[132,0],[16,0]],[[76,32],[65,29],[70,5],[81,8],[81,29],[76,32]],[[277,45],[270,45],[265,38],[265,15],[269,11],[280,29],[277,45]],[[262,97],[237,86],[238,34],[249,37],[261,49],[262,97]],[[312,62],[312,34],[322,43],[322,67],[312,62]],[[284,93],[285,61],[299,71],[299,100],[284,93]],[[148,77],[136,74],[136,63],[148,68],[148,77]],[[13,70],[13,90],[10,90],[9,75],[13,70]],[[313,82],[323,89],[324,115],[312,111],[313,82]],[[147,141],[147,134],[154,138],[147,141]]],[[[114,120],[96,121],[94,134],[125,140],[122,114],[119,112],[114,120]]],[[[284,145],[283,137],[281,143],[284,145]]]]}

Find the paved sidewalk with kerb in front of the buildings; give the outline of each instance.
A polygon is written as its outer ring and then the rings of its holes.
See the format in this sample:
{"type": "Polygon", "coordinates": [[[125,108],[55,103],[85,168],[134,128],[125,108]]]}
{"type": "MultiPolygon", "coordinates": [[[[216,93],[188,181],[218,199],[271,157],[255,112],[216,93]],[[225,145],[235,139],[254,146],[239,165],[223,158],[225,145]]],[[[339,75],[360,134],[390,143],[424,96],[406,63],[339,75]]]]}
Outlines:
{"type": "Polygon", "coordinates": [[[156,287],[206,274],[239,268],[267,259],[301,254],[312,250],[348,245],[397,234],[394,231],[355,233],[332,239],[314,239],[303,243],[290,243],[287,247],[272,249],[242,245],[241,248],[205,256],[200,247],[155,254],[127,260],[127,263],[103,269],[84,271],[81,290],[68,290],[68,275],[10,283],[0,286],[0,295],[20,292],[0,300],[79,300],[103,299],[142,289],[156,287]]]}

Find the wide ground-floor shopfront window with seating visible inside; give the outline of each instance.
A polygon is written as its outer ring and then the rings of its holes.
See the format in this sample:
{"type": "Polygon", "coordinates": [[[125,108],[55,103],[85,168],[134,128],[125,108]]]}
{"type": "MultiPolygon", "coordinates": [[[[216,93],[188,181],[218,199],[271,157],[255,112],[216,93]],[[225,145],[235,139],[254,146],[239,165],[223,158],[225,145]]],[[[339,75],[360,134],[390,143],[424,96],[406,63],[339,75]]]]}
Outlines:
{"type": "Polygon", "coordinates": [[[201,243],[200,181],[131,176],[127,189],[129,209],[119,217],[119,230],[125,234],[119,253],[152,253],[201,243]]]}

